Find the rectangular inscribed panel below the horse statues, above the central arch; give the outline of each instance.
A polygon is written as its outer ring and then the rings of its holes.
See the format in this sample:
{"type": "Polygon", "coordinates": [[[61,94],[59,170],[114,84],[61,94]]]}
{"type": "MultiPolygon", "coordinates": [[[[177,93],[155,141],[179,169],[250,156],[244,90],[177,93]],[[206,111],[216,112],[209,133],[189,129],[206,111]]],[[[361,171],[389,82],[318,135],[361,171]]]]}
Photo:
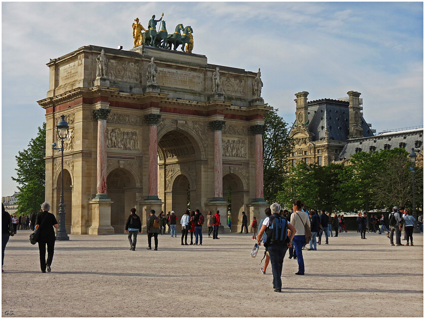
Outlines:
{"type": "Polygon", "coordinates": [[[178,71],[170,68],[158,68],[156,81],[159,85],[187,88],[202,91],[204,89],[204,74],[178,71]]]}

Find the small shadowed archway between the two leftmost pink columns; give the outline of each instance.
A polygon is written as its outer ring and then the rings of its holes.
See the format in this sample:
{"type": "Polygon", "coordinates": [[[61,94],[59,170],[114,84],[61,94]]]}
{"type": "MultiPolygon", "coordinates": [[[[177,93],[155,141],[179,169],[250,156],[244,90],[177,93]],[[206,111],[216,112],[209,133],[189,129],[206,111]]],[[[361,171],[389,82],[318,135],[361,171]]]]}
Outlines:
{"type": "Polygon", "coordinates": [[[125,168],[112,170],[106,179],[108,197],[111,198],[111,226],[115,234],[125,233],[125,222],[130,209],[136,207],[136,182],[125,168]]]}

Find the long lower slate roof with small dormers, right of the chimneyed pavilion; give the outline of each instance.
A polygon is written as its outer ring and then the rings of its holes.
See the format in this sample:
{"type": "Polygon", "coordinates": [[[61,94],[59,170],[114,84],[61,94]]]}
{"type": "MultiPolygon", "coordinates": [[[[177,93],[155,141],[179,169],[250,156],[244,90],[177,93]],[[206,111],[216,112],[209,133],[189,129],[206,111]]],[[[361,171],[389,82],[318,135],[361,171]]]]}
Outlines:
{"type": "Polygon", "coordinates": [[[342,149],[339,159],[348,159],[357,151],[368,152],[385,148],[404,148],[409,153],[412,147],[423,154],[423,128],[414,130],[387,132],[373,137],[348,140],[342,149]],[[372,147],[372,149],[371,149],[372,147]]]}

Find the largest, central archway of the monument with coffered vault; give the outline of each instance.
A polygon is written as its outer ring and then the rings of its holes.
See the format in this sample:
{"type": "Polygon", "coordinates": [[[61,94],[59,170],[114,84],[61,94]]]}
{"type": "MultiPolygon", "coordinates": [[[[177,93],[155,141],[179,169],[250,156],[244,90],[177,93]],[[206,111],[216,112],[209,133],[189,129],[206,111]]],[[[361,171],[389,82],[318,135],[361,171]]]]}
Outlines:
{"type": "Polygon", "coordinates": [[[201,174],[201,149],[190,133],[172,130],[163,134],[158,142],[158,196],[164,199],[164,212],[175,211],[182,216],[187,209],[190,186],[191,208],[201,207],[197,177],[201,174]]]}

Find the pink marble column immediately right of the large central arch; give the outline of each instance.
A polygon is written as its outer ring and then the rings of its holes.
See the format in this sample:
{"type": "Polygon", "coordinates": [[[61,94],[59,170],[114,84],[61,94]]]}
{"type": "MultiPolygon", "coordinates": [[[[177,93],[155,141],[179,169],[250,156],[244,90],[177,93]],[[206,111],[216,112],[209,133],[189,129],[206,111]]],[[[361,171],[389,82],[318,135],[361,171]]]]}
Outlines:
{"type": "Polygon", "coordinates": [[[214,130],[214,200],[223,201],[223,148],[221,145],[221,131],[226,121],[211,121],[214,130]]]}

